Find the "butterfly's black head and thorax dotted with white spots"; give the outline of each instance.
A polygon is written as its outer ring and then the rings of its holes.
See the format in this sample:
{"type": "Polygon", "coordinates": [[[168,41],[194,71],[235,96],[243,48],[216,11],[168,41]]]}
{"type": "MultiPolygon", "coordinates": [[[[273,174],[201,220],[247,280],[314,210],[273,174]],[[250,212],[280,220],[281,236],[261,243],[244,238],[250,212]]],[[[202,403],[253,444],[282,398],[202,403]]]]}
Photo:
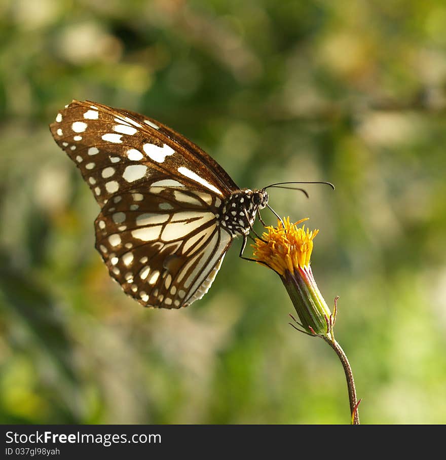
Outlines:
{"type": "Polygon", "coordinates": [[[248,235],[257,210],[265,208],[267,204],[268,194],[265,190],[237,190],[221,205],[221,214],[218,216],[221,226],[232,236],[248,235]]]}

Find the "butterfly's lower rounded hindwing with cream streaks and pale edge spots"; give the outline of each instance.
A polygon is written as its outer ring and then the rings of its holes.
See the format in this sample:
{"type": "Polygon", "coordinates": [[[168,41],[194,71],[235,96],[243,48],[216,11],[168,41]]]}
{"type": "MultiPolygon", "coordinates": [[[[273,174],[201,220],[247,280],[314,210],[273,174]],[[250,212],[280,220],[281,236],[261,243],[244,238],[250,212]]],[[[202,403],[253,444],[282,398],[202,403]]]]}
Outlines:
{"type": "Polygon", "coordinates": [[[95,221],[110,275],[144,306],[180,308],[201,298],[232,242],[209,211],[217,199],[172,187],[114,196],[95,221]]]}

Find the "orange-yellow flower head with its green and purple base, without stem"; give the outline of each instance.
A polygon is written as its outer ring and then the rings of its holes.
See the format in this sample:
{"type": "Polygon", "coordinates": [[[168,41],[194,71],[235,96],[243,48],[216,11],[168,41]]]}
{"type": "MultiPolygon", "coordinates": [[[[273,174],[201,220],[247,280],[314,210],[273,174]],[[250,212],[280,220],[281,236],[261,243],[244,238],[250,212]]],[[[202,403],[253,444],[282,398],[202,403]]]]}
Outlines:
{"type": "Polygon", "coordinates": [[[287,217],[277,227],[267,227],[262,240],[252,245],[253,256],[280,276],[305,331],[327,335],[331,312],[310,267],[313,239],[319,231],[298,227],[305,220],[290,223],[287,217]]]}

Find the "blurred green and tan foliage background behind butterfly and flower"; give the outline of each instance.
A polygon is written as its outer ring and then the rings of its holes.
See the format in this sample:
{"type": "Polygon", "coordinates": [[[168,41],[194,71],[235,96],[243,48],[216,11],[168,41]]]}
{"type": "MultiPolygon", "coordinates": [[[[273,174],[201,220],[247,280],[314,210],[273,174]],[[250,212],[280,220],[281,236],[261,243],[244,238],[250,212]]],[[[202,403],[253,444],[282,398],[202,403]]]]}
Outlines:
{"type": "Polygon", "coordinates": [[[320,229],[361,421],[446,423],[445,23],[441,0],[0,3],[0,421],[349,422],[336,355],[240,241],[181,311],[112,282],[48,129],[77,98],[174,127],[242,187],[336,184],[270,204],[320,229]]]}

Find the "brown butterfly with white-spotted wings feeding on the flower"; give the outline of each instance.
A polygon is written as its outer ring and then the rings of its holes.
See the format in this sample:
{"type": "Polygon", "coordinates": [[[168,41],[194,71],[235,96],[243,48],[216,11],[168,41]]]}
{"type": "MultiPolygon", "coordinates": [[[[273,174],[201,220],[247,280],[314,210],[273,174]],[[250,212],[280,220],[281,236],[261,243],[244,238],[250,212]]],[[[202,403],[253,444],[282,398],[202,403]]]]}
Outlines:
{"type": "Polygon", "coordinates": [[[142,305],[201,299],[237,236],[243,257],[265,188],[239,188],[196,144],[129,110],[73,100],[50,130],[101,207],[96,249],[142,305]]]}

